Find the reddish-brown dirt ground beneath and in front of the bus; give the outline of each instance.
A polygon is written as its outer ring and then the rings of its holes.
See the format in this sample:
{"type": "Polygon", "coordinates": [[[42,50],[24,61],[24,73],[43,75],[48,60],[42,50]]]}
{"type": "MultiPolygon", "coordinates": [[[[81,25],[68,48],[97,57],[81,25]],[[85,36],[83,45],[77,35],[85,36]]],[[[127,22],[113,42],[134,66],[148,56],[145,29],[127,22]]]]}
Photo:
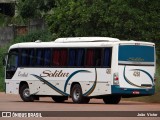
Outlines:
{"type": "MultiPolygon", "coordinates": [[[[69,99],[65,101],[65,103],[55,103],[51,98],[46,97],[46,98],[40,98],[39,101],[35,102],[23,102],[19,95],[10,95],[10,94],[5,94],[5,93],[0,93],[0,114],[2,112],[45,112],[49,111],[48,116],[42,116],[42,118],[38,119],[65,119],[65,120],[85,120],[85,119],[92,119],[92,120],[119,120],[119,119],[141,119],[141,120],[151,120],[151,119],[159,119],[160,118],[160,104],[154,104],[154,103],[144,103],[144,102],[134,102],[134,101],[121,101],[117,105],[107,105],[103,103],[103,100],[101,99],[91,99],[89,104],[74,104],[72,103],[72,100],[69,99]],[[70,112],[71,111],[71,112],[70,112]],[[94,112],[93,112],[94,111],[94,112]],[[96,112],[95,112],[96,111],[96,112]],[[129,114],[133,114],[132,112],[127,112],[127,111],[134,111],[136,114],[142,115],[141,117],[137,117],[137,115],[133,115],[133,117],[128,117],[130,116],[129,114]],[[100,112],[106,114],[99,114],[100,112]],[[106,113],[105,113],[106,112],[106,113]],[[159,117],[148,117],[147,113],[157,113],[159,117]],[[73,114],[72,114],[73,113],[73,114]],[[126,116],[126,117],[118,117],[116,116],[118,113],[118,116],[126,116]],[[68,116],[67,116],[68,114],[68,116]],[[88,116],[86,116],[88,114],[88,116]],[[108,117],[107,114],[110,116],[108,117]],[[113,116],[112,116],[113,114],[113,116]],[[145,116],[143,116],[145,114],[145,116]],[[76,117],[77,115],[77,117],[76,117]],[[82,115],[82,116],[81,116],[82,115]],[[92,117],[93,115],[93,117],[92,117]],[[96,116],[97,115],[97,116],[96,116]],[[55,117],[58,116],[58,117],[55,117]],[[99,117],[98,117],[99,116],[99,117]],[[105,116],[105,117],[104,117],[105,116]]],[[[44,113],[44,115],[46,115],[44,113]]],[[[2,116],[2,115],[0,115],[2,116]]],[[[14,116],[16,117],[16,116],[14,116]]],[[[22,118],[7,118],[11,120],[18,120],[22,118]]],[[[1,119],[6,119],[2,118],[1,119]]],[[[29,120],[36,120],[37,118],[24,118],[24,119],[29,119],[29,120]]]]}

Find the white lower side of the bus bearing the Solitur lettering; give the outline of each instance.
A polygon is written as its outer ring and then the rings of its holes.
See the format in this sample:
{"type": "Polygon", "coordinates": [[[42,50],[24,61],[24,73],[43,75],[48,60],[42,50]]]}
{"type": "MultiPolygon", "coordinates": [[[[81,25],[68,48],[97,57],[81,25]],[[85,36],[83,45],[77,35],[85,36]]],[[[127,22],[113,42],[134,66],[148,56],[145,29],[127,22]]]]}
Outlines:
{"type": "Polygon", "coordinates": [[[111,78],[111,68],[18,68],[13,82],[9,80],[16,87],[7,86],[7,90],[13,93],[16,88],[18,94],[20,82],[26,81],[32,95],[70,95],[76,82],[86,96],[106,95],[111,93],[111,78]]]}

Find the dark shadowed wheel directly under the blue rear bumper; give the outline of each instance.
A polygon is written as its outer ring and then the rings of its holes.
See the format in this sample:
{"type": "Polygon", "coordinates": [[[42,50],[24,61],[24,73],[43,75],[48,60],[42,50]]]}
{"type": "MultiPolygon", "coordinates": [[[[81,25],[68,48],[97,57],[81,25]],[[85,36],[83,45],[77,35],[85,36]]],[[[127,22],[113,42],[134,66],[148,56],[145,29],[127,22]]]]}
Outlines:
{"type": "Polygon", "coordinates": [[[103,98],[105,104],[118,104],[121,100],[120,95],[109,95],[103,98]]]}

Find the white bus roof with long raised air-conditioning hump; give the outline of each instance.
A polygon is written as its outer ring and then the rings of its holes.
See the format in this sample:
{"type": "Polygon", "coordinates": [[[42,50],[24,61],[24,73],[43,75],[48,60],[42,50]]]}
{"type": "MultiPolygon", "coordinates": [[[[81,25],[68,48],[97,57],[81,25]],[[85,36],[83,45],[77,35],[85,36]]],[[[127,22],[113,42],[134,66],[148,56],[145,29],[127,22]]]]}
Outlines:
{"type": "Polygon", "coordinates": [[[141,42],[141,41],[120,41],[117,38],[109,37],[73,37],[73,38],[58,38],[51,42],[41,42],[37,40],[35,42],[25,42],[17,43],[10,47],[13,48],[47,48],[47,47],[107,47],[113,46],[115,44],[129,45],[129,44],[139,44],[139,45],[149,45],[154,46],[151,42],[141,42]],[[77,44],[78,43],[78,44],[77,44]],[[89,43],[89,44],[88,44],[89,43]]]}

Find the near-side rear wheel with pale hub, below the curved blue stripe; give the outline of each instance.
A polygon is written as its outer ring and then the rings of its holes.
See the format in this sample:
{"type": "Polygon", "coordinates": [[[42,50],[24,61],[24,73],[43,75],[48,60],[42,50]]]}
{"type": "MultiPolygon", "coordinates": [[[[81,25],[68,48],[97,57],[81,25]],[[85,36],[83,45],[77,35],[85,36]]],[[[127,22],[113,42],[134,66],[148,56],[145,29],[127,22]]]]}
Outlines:
{"type": "Polygon", "coordinates": [[[71,97],[72,97],[73,103],[79,103],[79,104],[84,103],[84,97],[82,94],[82,88],[80,84],[75,84],[71,88],[71,97]]]}

